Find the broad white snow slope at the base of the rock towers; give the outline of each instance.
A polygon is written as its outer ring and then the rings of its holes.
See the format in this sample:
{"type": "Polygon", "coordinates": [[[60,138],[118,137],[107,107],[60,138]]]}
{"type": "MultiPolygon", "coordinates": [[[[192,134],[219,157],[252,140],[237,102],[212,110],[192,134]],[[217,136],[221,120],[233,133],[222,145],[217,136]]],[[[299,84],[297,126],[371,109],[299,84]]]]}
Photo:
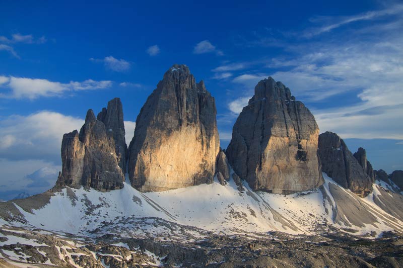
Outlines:
{"type": "MultiPolygon", "coordinates": [[[[338,228],[349,227],[358,231],[356,234],[372,231],[380,234],[391,229],[382,219],[392,216],[382,211],[373,200],[370,201],[373,197],[363,202],[368,203],[376,215],[381,215],[376,216],[379,218],[379,224],[363,228],[334,223],[333,208],[337,207],[337,204],[330,194],[329,184],[337,184],[323,174],[323,191],[330,201],[324,199],[320,189],[285,196],[253,192],[244,183],[245,191],[240,193],[232,180],[226,186],[214,182],[211,185],[153,193],[141,193],[125,183],[123,189],[106,193],[93,189],[71,189],[75,197],[69,196],[68,191],[63,189],[51,197],[49,204],[34,210],[33,214],[21,208],[19,210],[30,225],[80,235],[116,232],[131,237],[161,235],[178,230],[177,235],[180,236],[183,230],[179,230],[181,227],[178,227],[178,224],[227,234],[268,231],[309,234],[313,233],[317,226],[323,227],[325,224],[338,228]]],[[[349,190],[343,191],[354,198],[357,197],[349,190]]],[[[401,221],[395,218],[393,220],[397,222],[396,228],[400,226],[400,229],[403,229],[401,221]]],[[[198,229],[188,229],[186,232],[195,238],[203,237],[203,233],[198,229]]]]}

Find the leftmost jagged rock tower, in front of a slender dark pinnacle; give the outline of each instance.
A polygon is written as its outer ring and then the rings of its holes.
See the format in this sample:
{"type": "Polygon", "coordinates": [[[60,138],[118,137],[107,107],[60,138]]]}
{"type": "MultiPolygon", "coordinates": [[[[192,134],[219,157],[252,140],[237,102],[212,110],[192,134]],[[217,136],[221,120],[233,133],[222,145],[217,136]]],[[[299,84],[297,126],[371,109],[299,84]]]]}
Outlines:
{"type": "Polygon", "coordinates": [[[100,191],[123,188],[124,175],[115,151],[113,131],[88,110],[85,124],[64,134],[61,142],[62,171],[56,187],[92,187],[100,191]]]}

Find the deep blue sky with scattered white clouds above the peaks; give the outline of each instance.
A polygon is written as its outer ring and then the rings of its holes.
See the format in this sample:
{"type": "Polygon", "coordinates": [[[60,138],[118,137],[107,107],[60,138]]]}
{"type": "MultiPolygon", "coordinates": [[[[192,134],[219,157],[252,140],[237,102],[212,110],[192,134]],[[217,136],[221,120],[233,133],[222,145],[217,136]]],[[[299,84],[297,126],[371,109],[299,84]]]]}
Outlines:
{"type": "MultiPolygon", "coordinates": [[[[126,132],[164,72],[186,64],[216,98],[222,147],[269,75],[376,169],[403,169],[403,4],[281,1],[0,9],[0,199],[53,186],[62,134],[120,97],[126,132]]],[[[126,143],[129,143],[126,140],[126,143]]]]}

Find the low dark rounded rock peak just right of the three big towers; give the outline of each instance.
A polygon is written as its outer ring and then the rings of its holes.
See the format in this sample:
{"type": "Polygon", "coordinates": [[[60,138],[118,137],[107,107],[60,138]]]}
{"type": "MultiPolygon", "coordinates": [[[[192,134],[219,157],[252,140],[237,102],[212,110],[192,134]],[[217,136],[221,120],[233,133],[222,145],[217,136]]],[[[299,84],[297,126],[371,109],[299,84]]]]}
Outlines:
{"type": "Polygon", "coordinates": [[[342,187],[360,197],[366,197],[372,191],[372,179],[337,134],[320,134],[318,153],[322,171],[342,187]]]}

